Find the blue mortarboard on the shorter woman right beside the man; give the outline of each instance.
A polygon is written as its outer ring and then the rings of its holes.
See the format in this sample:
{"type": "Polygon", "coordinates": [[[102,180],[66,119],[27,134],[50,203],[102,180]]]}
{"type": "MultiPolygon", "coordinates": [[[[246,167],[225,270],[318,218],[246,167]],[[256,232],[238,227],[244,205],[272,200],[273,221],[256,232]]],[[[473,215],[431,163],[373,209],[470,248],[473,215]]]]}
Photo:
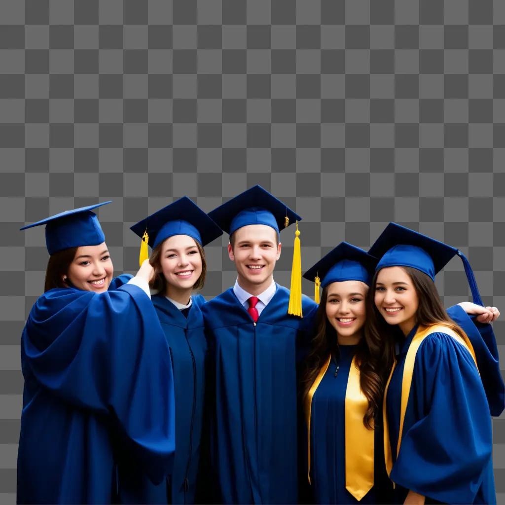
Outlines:
{"type": "Polygon", "coordinates": [[[370,285],[377,259],[366,251],[340,242],[334,249],[305,272],[304,277],[310,281],[321,278],[321,287],[332,282],[362,281],[370,285]]]}

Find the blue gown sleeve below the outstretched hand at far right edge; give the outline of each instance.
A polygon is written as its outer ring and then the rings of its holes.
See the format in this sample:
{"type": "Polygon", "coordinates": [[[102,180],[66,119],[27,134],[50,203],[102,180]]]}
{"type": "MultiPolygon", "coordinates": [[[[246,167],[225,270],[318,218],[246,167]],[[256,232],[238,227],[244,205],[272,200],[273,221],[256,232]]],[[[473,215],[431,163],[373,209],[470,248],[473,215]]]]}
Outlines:
{"type": "Polygon", "coordinates": [[[491,416],[499,416],[505,409],[505,385],[501,377],[498,348],[492,325],[479,323],[459,305],[447,309],[447,314],[472,342],[491,416]]]}

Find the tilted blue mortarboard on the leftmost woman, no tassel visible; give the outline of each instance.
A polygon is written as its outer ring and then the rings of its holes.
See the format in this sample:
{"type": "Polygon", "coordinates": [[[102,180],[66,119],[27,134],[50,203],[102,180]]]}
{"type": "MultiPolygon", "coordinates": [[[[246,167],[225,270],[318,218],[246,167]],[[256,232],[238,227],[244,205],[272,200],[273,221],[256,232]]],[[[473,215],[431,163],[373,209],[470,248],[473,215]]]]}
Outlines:
{"type": "Polygon", "coordinates": [[[98,245],[105,241],[105,235],[96,214],[91,212],[91,209],[110,203],[111,201],[104,201],[101,204],[60,212],[55,216],[23,226],[20,230],[45,224],[45,243],[50,255],[70,247],[98,245]]]}

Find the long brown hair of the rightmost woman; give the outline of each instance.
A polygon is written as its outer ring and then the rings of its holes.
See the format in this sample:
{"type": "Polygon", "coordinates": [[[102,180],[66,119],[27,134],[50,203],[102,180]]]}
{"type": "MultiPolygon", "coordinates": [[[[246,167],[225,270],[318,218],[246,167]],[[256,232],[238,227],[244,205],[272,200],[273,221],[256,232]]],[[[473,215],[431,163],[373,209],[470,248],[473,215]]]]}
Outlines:
{"type": "MultiPolygon", "coordinates": [[[[416,312],[416,324],[421,326],[433,326],[443,324],[460,336],[465,332],[455,324],[445,312],[440,301],[435,283],[425,273],[411,267],[400,267],[411,278],[416,290],[419,307],[416,312]]],[[[365,322],[365,338],[375,347],[379,347],[379,355],[382,360],[382,376],[387,376],[394,361],[394,345],[401,342],[405,337],[397,325],[387,324],[379,310],[375,306],[375,285],[377,283],[376,272],[367,296],[367,319],[365,322]]]]}

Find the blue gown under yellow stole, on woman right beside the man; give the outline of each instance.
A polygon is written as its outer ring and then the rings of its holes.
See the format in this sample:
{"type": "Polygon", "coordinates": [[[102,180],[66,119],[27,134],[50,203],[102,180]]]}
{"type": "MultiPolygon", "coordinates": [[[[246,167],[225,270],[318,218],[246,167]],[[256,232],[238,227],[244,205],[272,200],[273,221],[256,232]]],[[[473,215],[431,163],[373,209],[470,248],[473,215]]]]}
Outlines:
{"type": "Polygon", "coordinates": [[[339,345],[340,356],[336,361],[332,359],[312,397],[311,488],[314,503],[390,503],[392,499],[392,485],[384,465],[381,419],[375,423],[374,431],[374,486],[360,501],[345,488],[345,392],[357,348],[357,345],[339,345]]]}

